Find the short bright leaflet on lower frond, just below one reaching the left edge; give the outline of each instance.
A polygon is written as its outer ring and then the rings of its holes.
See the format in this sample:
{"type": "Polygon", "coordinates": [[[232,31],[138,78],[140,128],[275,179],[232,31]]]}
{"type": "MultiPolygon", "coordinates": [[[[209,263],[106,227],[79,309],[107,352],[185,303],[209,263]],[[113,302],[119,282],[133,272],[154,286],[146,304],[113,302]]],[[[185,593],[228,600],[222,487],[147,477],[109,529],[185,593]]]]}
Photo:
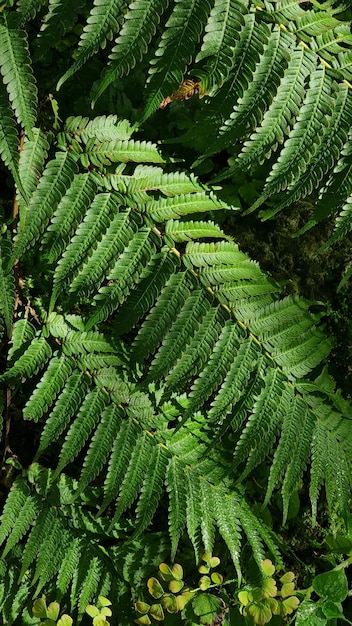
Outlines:
{"type": "Polygon", "coordinates": [[[52,358],[23,409],[24,419],[38,421],[51,407],[71,373],[72,363],[69,359],[52,358]]]}

